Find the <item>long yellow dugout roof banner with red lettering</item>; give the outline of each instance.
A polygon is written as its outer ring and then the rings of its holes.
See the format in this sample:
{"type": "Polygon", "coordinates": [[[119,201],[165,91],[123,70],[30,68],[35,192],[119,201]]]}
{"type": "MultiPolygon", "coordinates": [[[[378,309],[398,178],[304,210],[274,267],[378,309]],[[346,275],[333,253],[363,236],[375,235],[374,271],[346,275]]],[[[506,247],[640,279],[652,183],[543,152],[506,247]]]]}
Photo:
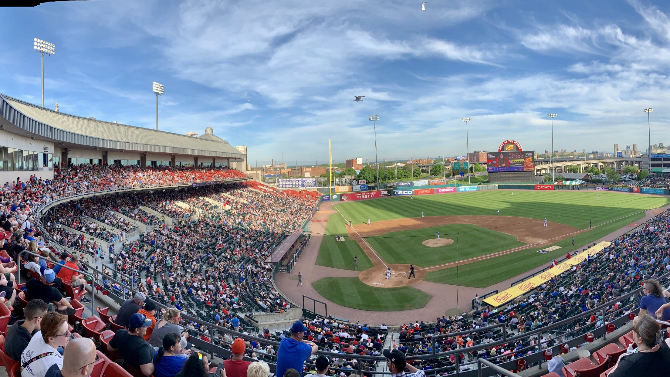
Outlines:
{"type": "Polygon", "coordinates": [[[612,244],[611,242],[602,241],[596,244],[595,246],[588,248],[588,250],[581,252],[580,254],[577,254],[576,256],[568,260],[565,260],[565,262],[562,262],[561,264],[555,266],[554,268],[550,268],[549,270],[542,272],[537,276],[533,276],[532,278],[520,282],[519,284],[509,289],[503,290],[502,292],[496,294],[495,296],[486,297],[486,299],[484,299],[484,303],[492,307],[499,307],[500,305],[508,303],[509,301],[512,301],[513,299],[516,299],[517,297],[526,294],[529,290],[532,290],[536,286],[539,286],[544,282],[551,280],[555,276],[558,276],[565,271],[569,271],[570,269],[572,269],[573,266],[576,266],[584,262],[587,256],[593,256],[595,254],[598,254],[602,252],[604,248],[610,246],[611,244],[612,244]]]}

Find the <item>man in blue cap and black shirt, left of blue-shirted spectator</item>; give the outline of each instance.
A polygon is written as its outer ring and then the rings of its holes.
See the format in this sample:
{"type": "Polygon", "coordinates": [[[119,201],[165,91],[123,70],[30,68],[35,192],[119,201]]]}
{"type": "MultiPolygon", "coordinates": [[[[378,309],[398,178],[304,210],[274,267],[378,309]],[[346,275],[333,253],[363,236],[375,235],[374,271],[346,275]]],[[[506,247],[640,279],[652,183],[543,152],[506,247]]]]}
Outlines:
{"type": "Polygon", "coordinates": [[[153,373],[153,354],[151,344],[142,337],[151,326],[151,319],[140,313],[133,313],[128,319],[128,329],[117,330],[107,345],[108,351],[119,351],[124,366],[142,371],[145,376],[153,373]]]}

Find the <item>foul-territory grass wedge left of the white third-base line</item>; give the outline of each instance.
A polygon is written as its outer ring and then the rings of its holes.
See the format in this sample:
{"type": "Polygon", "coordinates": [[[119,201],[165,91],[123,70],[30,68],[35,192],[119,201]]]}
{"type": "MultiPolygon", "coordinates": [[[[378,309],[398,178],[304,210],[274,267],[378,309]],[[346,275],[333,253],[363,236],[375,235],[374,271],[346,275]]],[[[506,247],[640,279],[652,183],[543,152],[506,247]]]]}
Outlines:
{"type": "Polygon", "coordinates": [[[316,257],[316,264],[319,266],[328,266],[342,268],[343,270],[354,270],[354,256],[358,256],[356,267],[358,271],[373,268],[373,262],[365,255],[355,239],[349,239],[346,235],[346,225],[344,219],[339,213],[333,213],[328,217],[326,225],[326,235],[321,241],[319,255],[316,257]],[[344,236],[345,241],[336,241],[335,236],[344,236]]]}

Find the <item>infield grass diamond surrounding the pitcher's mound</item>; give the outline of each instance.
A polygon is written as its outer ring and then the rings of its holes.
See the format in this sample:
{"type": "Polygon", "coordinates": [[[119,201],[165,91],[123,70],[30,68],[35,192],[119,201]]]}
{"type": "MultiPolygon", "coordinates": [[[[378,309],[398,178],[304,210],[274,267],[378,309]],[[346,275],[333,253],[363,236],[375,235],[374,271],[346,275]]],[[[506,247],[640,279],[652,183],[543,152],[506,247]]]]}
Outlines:
{"type": "Polygon", "coordinates": [[[517,237],[486,229],[474,224],[450,224],[438,227],[393,231],[366,241],[387,263],[416,264],[421,267],[437,266],[524,246],[517,237]],[[454,240],[454,244],[431,248],[421,244],[436,237],[454,240]]]}

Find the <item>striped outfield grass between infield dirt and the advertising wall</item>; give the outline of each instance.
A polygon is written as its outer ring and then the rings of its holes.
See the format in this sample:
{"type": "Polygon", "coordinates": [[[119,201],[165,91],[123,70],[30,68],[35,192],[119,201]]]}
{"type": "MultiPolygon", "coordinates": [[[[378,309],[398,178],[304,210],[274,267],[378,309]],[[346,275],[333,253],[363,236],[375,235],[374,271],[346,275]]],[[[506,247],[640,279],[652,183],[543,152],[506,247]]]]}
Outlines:
{"type": "Polygon", "coordinates": [[[425,216],[495,215],[496,209],[500,209],[502,216],[546,217],[549,221],[585,229],[589,220],[593,225],[600,225],[668,203],[668,199],[663,197],[607,191],[599,194],[600,198],[596,199],[595,191],[515,190],[511,195],[510,191],[491,190],[334,204],[354,224],[366,223],[368,217],[372,221],[421,217],[421,211],[425,212],[425,216]]]}

